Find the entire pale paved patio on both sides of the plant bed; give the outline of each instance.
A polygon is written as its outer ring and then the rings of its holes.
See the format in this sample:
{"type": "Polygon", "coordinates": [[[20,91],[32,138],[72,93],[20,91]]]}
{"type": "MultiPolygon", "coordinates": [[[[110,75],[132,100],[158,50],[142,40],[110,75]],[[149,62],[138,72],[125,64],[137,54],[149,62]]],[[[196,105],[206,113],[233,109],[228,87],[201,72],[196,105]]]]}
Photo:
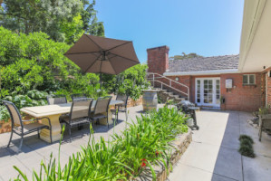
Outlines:
{"type": "MultiPolygon", "coordinates": [[[[140,116],[141,110],[141,106],[130,108],[129,122],[140,116]]],[[[257,130],[247,123],[247,119],[251,117],[250,113],[202,110],[198,112],[197,117],[200,129],[193,131],[193,141],[179,160],[179,164],[170,173],[170,181],[270,180],[271,137],[264,133],[262,142],[257,140],[257,130]],[[240,134],[250,135],[254,139],[256,158],[242,157],[237,152],[237,139],[240,134]]],[[[112,126],[109,130],[106,126],[95,126],[94,137],[99,139],[102,136],[108,139],[113,132],[120,133],[125,129],[123,113],[120,113],[120,119],[114,129],[112,126]]],[[[69,156],[87,144],[88,132],[88,128],[80,131],[73,129],[72,143],[69,142],[69,136],[64,135],[60,157],[62,165],[67,163],[69,156]]],[[[38,139],[36,134],[24,139],[22,153],[16,155],[19,141],[13,141],[12,147],[6,148],[9,136],[9,133],[0,135],[0,180],[5,181],[18,175],[13,166],[31,176],[33,169],[39,170],[42,159],[48,163],[51,153],[53,157],[58,156],[59,143],[47,144],[38,139]]]]}

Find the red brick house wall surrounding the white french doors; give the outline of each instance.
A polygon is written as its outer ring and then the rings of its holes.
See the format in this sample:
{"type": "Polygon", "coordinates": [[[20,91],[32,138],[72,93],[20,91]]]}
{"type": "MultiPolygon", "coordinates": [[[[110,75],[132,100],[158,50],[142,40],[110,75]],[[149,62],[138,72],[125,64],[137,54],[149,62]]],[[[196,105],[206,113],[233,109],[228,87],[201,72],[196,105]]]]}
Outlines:
{"type": "MultiPolygon", "coordinates": [[[[245,73],[250,74],[250,73],[245,73]]],[[[190,101],[195,102],[195,80],[196,78],[209,78],[220,77],[220,92],[226,100],[225,104],[221,105],[222,110],[242,110],[242,111],[255,111],[261,107],[261,74],[256,74],[255,86],[243,86],[243,74],[231,73],[221,75],[209,75],[209,76],[179,76],[179,82],[189,85],[190,87],[190,101]],[[235,88],[227,90],[225,88],[226,79],[233,80],[233,86],[235,88]]],[[[170,79],[176,78],[176,76],[170,76],[170,79]]],[[[269,79],[269,86],[271,88],[271,79],[269,79]]],[[[271,101],[271,89],[269,90],[269,98],[271,101]]]]}

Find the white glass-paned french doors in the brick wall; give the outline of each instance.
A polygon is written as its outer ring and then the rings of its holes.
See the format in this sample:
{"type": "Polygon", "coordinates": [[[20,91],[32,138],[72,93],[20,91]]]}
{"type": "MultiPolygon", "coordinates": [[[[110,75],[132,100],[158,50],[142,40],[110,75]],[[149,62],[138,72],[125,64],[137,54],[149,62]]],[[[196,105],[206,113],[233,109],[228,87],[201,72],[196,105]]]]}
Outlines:
{"type": "Polygon", "coordinates": [[[199,106],[220,107],[220,78],[197,78],[195,94],[199,106]]]}

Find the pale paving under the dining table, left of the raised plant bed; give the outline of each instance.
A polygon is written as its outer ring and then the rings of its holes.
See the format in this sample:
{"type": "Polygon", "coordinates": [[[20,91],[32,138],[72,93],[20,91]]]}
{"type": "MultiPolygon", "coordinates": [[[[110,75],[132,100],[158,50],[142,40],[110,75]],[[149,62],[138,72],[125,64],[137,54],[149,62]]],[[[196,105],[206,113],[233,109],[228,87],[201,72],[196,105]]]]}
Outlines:
{"type": "MultiPolygon", "coordinates": [[[[135,120],[137,116],[140,117],[142,106],[131,107],[128,110],[130,112],[128,122],[131,123],[131,120],[135,120]]],[[[125,114],[120,112],[119,119],[118,124],[115,127],[111,125],[110,129],[107,126],[94,125],[94,138],[98,140],[102,137],[108,140],[112,134],[121,133],[127,127],[125,114]]],[[[69,157],[73,153],[80,151],[82,146],[87,145],[90,137],[89,132],[88,126],[84,126],[81,130],[77,128],[72,129],[72,142],[70,142],[67,130],[65,130],[60,154],[60,163],[62,166],[69,161],[69,157]]],[[[15,152],[17,151],[20,139],[14,135],[11,147],[6,148],[9,137],[10,133],[0,134],[0,181],[6,181],[18,175],[14,166],[22,169],[31,178],[32,170],[39,171],[42,160],[48,163],[51,153],[56,160],[58,159],[59,142],[54,142],[53,144],[46,143],[37,138],[36,133],[33,133],[24,138],[22,152],[16,154],[15,152]]]]}

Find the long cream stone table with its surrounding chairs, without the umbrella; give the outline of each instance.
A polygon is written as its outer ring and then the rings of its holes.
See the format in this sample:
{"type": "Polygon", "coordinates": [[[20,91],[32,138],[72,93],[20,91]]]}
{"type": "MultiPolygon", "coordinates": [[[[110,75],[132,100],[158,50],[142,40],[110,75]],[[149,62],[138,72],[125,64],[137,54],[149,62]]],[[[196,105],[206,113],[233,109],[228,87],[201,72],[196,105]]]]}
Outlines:
{"type": "Polygon", "coordinates": [[[72,102],[68,102],[63,95],[48,96],[48,105],[27,107],[21,109],[21,112],[34,117],[35,119],[23,120],[20,111],[15,104],[3,100],[12,120],[12,131],[7,147],[15,133],[21,137],[19,150],[23,145],[25,135],[37,131],[38,138],[46,142],[53,143],[60,140],[62,127],[65,124],[69,129],[70,141],[72,141],[71,129],[78,127],[81,129],[84,124],[100,123],[110,125],[111,114],[115,115],[115,121],[118,122],[118,113],[125,112],[127,119],[127,102],[129,96],[117,95],[115,100],[111,96],[100,97],[97,100],[87,98],[85,95],[73,94],[72,102]]]}

